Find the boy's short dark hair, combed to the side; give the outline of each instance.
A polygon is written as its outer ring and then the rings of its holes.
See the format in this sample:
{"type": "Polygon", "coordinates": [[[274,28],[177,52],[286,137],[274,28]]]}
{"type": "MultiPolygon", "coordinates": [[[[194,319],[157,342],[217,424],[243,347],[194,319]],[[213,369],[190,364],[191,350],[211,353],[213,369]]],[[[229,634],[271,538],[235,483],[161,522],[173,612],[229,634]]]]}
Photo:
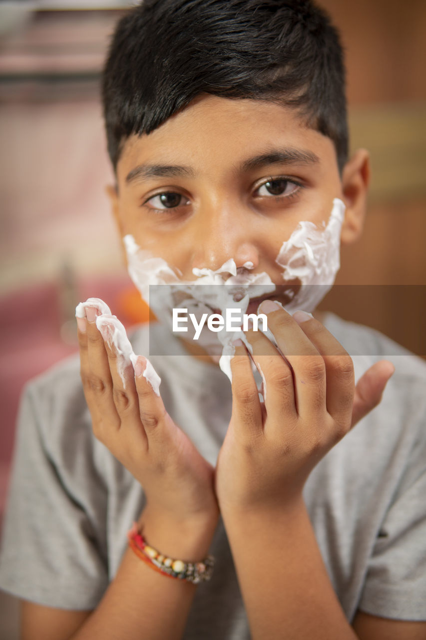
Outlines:
{"type": "Polygon", "coordinates": [[[347,161],[338,31],[310,0],[145,0],[116,27],[102,99],[114,169],[123,143],[200,93],[296,108],[347,161]]]}

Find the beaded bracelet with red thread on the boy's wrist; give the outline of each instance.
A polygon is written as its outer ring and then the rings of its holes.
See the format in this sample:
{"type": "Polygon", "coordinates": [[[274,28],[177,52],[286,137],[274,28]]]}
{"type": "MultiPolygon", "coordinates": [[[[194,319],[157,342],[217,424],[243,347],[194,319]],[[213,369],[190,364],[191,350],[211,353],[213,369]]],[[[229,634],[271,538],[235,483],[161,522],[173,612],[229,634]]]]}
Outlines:
{"type": "Polygon", "coordinates": [[[159,551],[150,547],[146,543],[145,538],[138,531],[138,525],[133,523],[132,528],[127,532],[129,546],[132,548],[136,556],[145,563],[149,564],[152,569],[170,578],[177,580],[187,580],[198,584],[198,582],[207,582],[213,573],[214,557],[207,556],[204,560],[197,563],[184,562],[182,560],[174,560],[164,556],[159,551]]]}

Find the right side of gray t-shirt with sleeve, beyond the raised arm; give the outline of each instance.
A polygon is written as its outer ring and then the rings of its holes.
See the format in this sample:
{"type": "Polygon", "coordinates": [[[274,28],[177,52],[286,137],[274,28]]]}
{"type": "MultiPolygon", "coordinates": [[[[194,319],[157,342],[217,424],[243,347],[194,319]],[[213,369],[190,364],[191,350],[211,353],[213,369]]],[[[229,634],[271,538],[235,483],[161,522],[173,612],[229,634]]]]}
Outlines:
{"type": "Polygon", "coordinates": [[[358,607],[383,618],[422,620],[426,363],[367,326],[332,314],[324,325],[352,356],[356,378],[382,359],[393,362],[395,373],[381,403],[308,478],[315,534],[348,618],[358,607]]]}

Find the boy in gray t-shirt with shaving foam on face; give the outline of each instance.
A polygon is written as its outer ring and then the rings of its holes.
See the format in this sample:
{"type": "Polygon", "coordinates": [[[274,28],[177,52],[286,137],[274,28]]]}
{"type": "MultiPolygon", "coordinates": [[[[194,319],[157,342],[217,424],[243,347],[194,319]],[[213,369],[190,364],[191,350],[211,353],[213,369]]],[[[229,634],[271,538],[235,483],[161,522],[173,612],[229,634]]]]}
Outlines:
{"type": "Polygon", "coordinates": [[[134,279],[153,259],[154,284],[264,275],[273,340],[246,329],[231,387],[209,349],[141,328],[158,388],[101,301],[79,308],[83,388],[71,360],[22,403],[1,569],[22,637],[424,638],[425,366],[401,349],[370,413],[390,341],[274,303],[306,300],[303,274],[331,284],[336,220],[343,243],[362,228],[335,29],[306,1],[148,1],[118,26],[104,106],[134,279]],[[277,258],[296,232],[297,277],[277,258]],[[166,575],[209,550],[211,580],[166,575]]]}

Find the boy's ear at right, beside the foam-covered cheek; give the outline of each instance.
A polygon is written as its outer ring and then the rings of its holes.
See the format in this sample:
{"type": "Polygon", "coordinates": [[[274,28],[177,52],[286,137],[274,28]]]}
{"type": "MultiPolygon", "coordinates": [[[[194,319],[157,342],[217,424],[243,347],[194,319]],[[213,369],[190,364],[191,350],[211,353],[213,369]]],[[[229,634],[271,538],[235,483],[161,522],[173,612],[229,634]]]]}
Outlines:
{"type": "Polygon", "coordinates": [[[342,191],[346,211],[340,235],[342,244],[351,244],[361,236],[369,182],[370,154],[366,149],[358,149],[343,168],[342,191]]]}

